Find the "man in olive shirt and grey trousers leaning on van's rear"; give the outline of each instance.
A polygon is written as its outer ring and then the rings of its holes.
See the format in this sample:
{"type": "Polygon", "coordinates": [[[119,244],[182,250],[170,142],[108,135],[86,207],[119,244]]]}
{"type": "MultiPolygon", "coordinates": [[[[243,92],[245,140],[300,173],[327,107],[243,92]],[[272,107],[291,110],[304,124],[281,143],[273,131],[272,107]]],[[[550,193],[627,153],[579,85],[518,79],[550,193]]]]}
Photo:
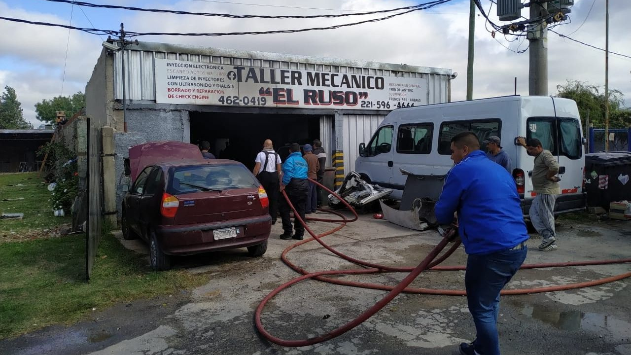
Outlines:
{"type": "Polygon", "coordinates": [[[541,141],[533,138],[528,140],[524,137],[517,137],[517,144],[528,150],[528,155],[534,157],[533,167],[533,204],[530,206],[528,214],[533,222],[534,228],[541,235],[541,244],[538,249],[541,251],[557,250],[557,238],[554,229],[554,205],[557,195],[561,195],[561,187],[558,182],[558,162],[550,150],[543,149],[541,141]]]}

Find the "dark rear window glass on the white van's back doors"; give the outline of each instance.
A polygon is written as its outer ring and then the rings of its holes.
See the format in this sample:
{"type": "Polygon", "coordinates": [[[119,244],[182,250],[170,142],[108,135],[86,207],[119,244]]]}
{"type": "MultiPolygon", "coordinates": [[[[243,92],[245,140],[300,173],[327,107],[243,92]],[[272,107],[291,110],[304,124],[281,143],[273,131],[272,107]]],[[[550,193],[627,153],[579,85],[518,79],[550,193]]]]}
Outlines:
{"type": "Polygon", "coordinates": [[[570,117],[530,117],[526,121],[526,140],[536,138],[552,155],[580,159],[581,129],[579,120],[570,117]]]}

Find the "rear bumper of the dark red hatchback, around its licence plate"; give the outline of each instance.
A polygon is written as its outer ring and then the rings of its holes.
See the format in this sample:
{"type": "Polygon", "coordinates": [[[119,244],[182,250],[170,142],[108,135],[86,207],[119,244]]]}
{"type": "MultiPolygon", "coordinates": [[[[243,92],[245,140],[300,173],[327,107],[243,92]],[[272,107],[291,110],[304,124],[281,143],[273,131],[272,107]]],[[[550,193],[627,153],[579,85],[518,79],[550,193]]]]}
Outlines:
{"type": "Polygon", "coordinates": [[[207,251],[244,248],[261,244],[269,238],[269,214],[221,222],[185,226],[157,226],[156,237],[162,251],[168,255],[191,255],[207,251]],[[237,236],[215,239],[213,231],[234,227],[237,236]]]}

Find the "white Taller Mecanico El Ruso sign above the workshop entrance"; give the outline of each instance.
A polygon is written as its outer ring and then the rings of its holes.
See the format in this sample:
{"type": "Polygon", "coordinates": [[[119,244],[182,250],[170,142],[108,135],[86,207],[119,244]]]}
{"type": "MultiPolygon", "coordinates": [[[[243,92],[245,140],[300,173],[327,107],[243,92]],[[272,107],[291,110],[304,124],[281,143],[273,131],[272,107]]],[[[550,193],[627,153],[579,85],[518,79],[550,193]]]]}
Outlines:
{"type": "Polygon", "coordinates": [[[425,78],[155,59],[156,103],[390,111],[427,104],[425,78]]]}

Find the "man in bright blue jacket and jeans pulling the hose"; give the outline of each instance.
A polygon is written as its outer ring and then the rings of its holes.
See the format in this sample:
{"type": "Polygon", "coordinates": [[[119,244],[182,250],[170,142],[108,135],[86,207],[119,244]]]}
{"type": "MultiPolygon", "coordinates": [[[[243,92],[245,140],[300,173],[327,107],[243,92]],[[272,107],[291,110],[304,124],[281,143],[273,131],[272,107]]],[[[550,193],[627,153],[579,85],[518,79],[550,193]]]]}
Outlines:
{"type": "Polygon", "coordinates": [[[460,344],[463,355],[499,355],[497,316],[500,291],[526,259],[528,232],[515,181],[480,150],[475,133],[451,140],[454,167],[436,203],[439,224],[454,222],[469,255],[464,284],[476,339],[460,344]]]}

